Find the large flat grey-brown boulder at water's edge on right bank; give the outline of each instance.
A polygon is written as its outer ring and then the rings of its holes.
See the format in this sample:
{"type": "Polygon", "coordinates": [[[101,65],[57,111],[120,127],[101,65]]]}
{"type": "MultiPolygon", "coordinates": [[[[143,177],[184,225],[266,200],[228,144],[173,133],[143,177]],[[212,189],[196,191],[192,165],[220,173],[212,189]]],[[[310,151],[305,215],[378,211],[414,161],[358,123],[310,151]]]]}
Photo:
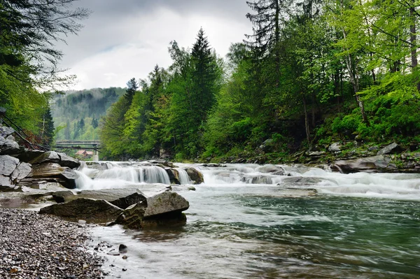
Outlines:
{"type": "Polygon", "coordinates": [[[340,160],[332,164],[332,171],[340,173],[356,173],[363,171],[367,173],[377,172],[396,172],[397,166],[391,163],[391,159],[386,155],[365,157],[360,159],[340,160]]]}

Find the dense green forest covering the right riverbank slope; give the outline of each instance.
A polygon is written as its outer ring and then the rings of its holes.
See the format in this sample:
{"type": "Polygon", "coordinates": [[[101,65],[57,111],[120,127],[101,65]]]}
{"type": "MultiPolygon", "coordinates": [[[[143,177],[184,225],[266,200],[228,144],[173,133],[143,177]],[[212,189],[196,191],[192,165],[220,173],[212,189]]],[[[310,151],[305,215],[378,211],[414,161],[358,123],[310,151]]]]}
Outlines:
{"type": "Polygon", "coordinates": [[[419,141],[415,1],[247,3],[253,34],[226,59],[200,29],[192,48],[169,44],[168,69],[130,80],[102,119],[106,157],[269,160],[340,139],[419,141]]]}

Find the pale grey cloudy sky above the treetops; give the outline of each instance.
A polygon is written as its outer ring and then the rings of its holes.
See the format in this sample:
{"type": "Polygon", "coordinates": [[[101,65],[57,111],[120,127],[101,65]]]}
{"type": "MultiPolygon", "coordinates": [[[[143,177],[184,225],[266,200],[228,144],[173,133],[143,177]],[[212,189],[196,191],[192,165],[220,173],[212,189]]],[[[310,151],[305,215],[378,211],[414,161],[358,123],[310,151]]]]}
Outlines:
{"type": "Polygon", "coordinates": [[[167,68],[170,41],[190,48],[202,27],[212,48],[225,56],[230,43],[251,34],[246,0],[80,0],[92,14],[78,36],[57,45],[60,66],[76,74],[71,89],[125,87],[146,78],[155,64],[167,68]]]}

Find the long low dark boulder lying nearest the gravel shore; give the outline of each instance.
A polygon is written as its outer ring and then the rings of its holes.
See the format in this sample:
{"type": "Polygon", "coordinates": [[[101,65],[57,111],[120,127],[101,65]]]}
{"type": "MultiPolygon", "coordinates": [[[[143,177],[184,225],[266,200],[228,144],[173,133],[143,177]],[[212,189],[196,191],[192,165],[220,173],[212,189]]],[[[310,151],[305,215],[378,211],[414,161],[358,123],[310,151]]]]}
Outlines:
{"type": "Polygon", "coordinates": [[[57,203],[39,210],[40,214],[57,215],[71,219],[110,222],[123,212],[109,201],[97,199],[75,199],[67,203],[57,203]]]}

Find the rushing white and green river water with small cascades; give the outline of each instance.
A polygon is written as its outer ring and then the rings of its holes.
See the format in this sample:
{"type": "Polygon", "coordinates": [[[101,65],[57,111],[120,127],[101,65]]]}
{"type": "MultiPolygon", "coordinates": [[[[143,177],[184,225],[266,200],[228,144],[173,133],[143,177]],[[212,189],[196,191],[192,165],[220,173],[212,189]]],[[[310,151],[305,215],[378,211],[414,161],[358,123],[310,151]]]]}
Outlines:
{"type": "MultiPolygon", "coordinates": [[[[148,165],[108,164],[82,169],[78,187],[165,183],[154,175],[141,180],[148,165]]],[[[93,229],[97,242],[128,246],[127,259],[107,256],[111,277],[420,278],[419,175],[176,165],[200,169],[205,180],[196,191],[173,187],[190,202],[186,226],[93,229]],[[305,194],[307,188],[318,194],[305,194]]]]}

